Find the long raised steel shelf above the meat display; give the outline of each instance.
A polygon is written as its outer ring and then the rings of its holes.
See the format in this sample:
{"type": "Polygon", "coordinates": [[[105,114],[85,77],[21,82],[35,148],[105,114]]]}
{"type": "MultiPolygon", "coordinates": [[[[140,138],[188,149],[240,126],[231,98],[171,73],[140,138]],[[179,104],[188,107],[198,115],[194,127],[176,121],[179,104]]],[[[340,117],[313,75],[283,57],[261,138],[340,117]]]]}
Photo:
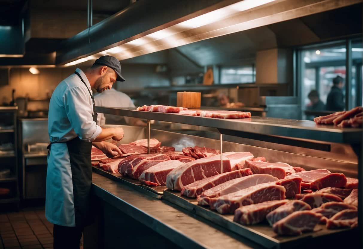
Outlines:
{"type": "MultiPolygon", "coordinates": [[[[259,134],[283,136],[295,139],[309,139],[334,143],[360,143],[362,128],[341,128],[330,125],[317,125],[313,121],[252,117],[245,119],[204,118],[177,113],[157,113],[136,111],[133,108],[96,107],[98,113],[113,114],[139,119],[150,119],[196,126],[217,128],[221,133],[235,136],[259,134]],[[225,132],[224,132],[225,131],[225,132]]],[[[280,139],[280,138],[276,138],[280,139]]]]}

